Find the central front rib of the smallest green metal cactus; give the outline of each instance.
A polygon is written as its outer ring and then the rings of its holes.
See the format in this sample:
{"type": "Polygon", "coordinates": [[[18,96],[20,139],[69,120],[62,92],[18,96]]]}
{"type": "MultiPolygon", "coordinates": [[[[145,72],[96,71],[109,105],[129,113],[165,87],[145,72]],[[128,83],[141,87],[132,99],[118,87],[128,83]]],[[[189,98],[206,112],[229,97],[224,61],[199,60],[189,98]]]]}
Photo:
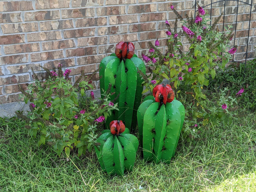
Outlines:
{"type": "Polygon", "coordinates": [[[115,163],[116,173],[118,175],[123,175],[124,174],[124,151],[121,143],[117,139],[117,136],[115,136],[115,139],[114,139],[113,154],[114,154],[114,163],[115,163]]]}

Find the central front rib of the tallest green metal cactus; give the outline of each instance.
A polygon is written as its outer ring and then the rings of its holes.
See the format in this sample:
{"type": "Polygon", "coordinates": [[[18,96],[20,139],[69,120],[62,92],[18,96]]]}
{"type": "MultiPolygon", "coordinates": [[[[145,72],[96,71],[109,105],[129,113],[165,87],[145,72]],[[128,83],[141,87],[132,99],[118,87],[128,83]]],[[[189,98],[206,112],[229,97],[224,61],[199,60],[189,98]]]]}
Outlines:
{"type": "MultiPolygon", "coordinates": [[[[124,111],[126,108],[126,87],[127,87],[127,79],[124,67],[124,61],[122,60],[116,74],[116,94],[115,97],[118,96],[116,102],[118,103],[119,111],[116,113],[115,119],[124,120],[124,111]]],[[[117,111],[116,111],[117,112],[117,111]]],[[[126,125],[126,124],[125,124],[126,125]]]]}

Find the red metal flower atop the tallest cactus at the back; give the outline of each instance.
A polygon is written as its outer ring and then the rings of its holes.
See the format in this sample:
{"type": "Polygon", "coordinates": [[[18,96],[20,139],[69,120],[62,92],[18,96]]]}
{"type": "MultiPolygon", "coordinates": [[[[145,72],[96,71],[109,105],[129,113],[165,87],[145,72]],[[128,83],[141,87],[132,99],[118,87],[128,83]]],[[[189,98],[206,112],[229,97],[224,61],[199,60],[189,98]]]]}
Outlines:
{"type": "Polygon", "coordinates": [[[116,44],[115,53],[119,59],[131,59],[134,54],[134,45],[132,42],[121,41],[116,44]]]}

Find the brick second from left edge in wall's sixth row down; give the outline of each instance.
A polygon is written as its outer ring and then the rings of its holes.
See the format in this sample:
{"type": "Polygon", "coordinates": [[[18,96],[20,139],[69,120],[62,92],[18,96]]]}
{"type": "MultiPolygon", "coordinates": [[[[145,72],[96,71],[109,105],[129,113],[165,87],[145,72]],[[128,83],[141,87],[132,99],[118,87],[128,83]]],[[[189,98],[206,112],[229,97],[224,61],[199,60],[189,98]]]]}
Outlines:
{"type": "Polygon", "coordinates": [[[50,59],[60,59],[63,58],[62,51],[51,51],[51,52],[40,52],[40,53],[31,53],[31,61],[44,61],[50,59]]]}

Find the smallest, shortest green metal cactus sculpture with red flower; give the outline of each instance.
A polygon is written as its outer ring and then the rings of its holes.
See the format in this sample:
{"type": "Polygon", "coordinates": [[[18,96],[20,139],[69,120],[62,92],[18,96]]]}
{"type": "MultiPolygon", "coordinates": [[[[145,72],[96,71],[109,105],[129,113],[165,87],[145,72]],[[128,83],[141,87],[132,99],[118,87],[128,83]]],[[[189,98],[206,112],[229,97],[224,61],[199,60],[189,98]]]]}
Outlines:
{"type": "Polygon", "coordinates": [[[139,141],[129,134],[122,121],[112,121],[110,131],[104,130],[95,145],[100,166],[103,171],[114,175],[123,175],[124,171],[132,169],[139,141]]]}

